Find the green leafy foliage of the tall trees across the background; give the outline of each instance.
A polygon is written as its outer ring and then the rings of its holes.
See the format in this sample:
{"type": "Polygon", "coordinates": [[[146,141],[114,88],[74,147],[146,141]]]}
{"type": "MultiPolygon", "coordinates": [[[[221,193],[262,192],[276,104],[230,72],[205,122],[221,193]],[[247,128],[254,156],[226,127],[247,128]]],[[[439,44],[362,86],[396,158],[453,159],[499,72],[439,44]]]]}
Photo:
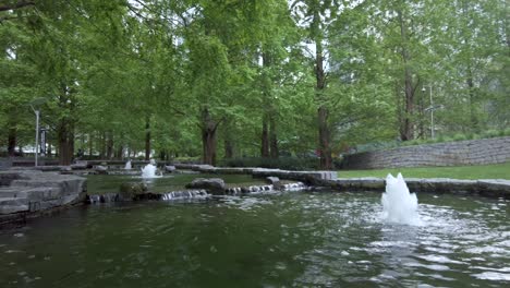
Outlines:
{"type": "Polygon", "coordinates": [[[39,97],[50,143],[64,125],[96,157],[108,146],[134,157],[150,133],[155,155],[195,158],[205,108],[220,157],[229,145],[234,157],[260,155],[265,120],[280,151],[314,151],[319,106],[329,110],[333,154],[402,145],[394,143],[405,116],[417,140],[403,145],[510,135],[505,1],[137,2],[36,1],[0,12],[0,146],[12,131],[19,145],[33,142],[29,104],[39,97]],[[317,43],[327,74],[319,93],[317,43]],[[430,98],[442,107],[434,140],[430,98]]]}

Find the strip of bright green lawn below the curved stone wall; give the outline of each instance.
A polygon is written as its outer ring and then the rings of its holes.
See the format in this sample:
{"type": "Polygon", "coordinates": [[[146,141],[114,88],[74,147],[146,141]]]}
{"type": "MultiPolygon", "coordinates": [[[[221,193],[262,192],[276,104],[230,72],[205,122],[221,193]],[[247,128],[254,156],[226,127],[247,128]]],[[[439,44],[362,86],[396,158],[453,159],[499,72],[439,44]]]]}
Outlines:
{"type": "Polygon", "coordinates": [[[401,172],[404,178],[452,178],[452,179],[509,179],[510,163],[482,166],[388,168],[375,170],[340,170],[340,178],[378,177],[401,172]]]}

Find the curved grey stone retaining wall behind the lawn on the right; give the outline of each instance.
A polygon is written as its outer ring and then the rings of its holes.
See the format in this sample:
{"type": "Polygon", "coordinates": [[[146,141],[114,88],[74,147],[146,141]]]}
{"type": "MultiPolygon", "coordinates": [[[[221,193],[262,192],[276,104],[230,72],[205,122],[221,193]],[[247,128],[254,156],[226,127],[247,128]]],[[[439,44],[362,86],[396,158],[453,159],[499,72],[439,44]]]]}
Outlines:
{"type": "Polygon", "coordinates": [[[347,155],[344,169],[487,165],[510,161],[510,136],[347,155]]]}

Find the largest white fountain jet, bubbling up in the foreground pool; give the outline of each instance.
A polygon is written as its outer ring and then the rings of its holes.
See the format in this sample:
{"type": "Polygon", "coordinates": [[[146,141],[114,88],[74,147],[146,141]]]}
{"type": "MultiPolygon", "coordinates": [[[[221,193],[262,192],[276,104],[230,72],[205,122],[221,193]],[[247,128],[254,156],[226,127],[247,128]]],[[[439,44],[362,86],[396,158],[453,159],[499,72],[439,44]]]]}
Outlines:
{"type": "Polygon", "coordinates": [[[420,225],[416,194],[410,193],[401,173],[386,177],[386,193],[381,196],[382,219],[388,223],[420,225]]]}

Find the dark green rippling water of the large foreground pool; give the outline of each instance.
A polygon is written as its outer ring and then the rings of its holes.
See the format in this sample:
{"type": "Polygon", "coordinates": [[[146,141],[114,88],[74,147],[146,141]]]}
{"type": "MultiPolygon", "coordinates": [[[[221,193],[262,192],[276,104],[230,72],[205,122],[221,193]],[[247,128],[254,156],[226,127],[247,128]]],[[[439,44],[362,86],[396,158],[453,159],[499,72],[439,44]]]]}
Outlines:
{"type": "Polygon", "coordinates": [[[0,287],[510,287],[506,200],[379,193],[85,206],[0,231],[0,287]]]}

